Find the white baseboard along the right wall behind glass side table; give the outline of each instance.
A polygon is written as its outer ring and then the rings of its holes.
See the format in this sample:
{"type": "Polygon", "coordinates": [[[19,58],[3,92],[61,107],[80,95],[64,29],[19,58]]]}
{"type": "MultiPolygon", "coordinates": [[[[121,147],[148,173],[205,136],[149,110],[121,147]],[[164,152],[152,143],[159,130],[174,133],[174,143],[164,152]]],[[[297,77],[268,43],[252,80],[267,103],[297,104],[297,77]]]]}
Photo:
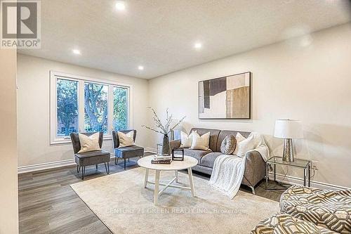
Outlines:
{"type": "MultiPolygon", "coordinates": [[[[268,178],[272,179],[273,174],[269,173],[268,178]]],[[[282,174],[277,174],[276,178],[277,178],[277,181],[282,182],[282,183],[303,186],[303,178],[298,178],[295,176],[285,176],[285,178],[284,178],[284,175],[282,175],[282,174]]],[[[308,182],[307,182],[307,184],[308,184],[308,182]]],[[[327,189],[327,190],[350,189],[347,187],[336,186],[336,185],[333,185],[331,183],[322,183],[322,182],[318,182],[318,181],[311,181],[311,187],[320,188],[320,189],[327,189]]]]}

